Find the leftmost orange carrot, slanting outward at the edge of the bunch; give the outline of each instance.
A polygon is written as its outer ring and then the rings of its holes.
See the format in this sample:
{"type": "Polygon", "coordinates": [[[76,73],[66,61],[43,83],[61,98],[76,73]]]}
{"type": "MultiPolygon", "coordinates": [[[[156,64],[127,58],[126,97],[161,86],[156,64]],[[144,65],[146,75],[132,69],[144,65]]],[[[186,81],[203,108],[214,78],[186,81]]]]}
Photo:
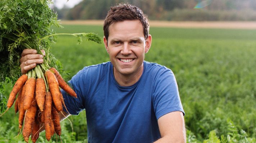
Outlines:
{"type": "Polygon", "coordinates": [[[16,98],[16,94],[19,92],[19,90],[22,88],[24,83],[27,81],[28,76],[26,74],[23,74],[14,84],[14,87],[12,89],[12,92],[10,93],[8,102],[7,102],[7,107],[8,109],[12,107],[14,100],[16,98]]]}

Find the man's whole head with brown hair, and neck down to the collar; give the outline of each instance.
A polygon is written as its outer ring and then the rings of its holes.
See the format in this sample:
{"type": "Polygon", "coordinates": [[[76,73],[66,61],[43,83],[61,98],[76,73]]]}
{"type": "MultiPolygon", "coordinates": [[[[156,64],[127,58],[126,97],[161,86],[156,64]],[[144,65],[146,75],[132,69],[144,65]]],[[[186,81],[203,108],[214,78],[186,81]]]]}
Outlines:
{"type": "Polygon", "coordinates": [[[142,75],[145,53],[152,41],[148,32],[147,18],[135,6],[123,4],[112,7],[108,12],[103,40],[114,66],[115,80],[120,85],[130,86],[142,75]]]}

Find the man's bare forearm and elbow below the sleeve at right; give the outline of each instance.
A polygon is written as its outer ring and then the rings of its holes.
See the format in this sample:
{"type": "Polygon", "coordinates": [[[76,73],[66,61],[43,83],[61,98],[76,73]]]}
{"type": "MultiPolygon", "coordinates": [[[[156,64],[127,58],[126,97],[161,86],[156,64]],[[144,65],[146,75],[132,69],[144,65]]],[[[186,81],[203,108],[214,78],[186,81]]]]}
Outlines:
{"type": "Polygon", "coordinates": [[[186,129],[183,113],[170,112],[158,120],[161,138],[155,143],[186,143],[186,129]]]}

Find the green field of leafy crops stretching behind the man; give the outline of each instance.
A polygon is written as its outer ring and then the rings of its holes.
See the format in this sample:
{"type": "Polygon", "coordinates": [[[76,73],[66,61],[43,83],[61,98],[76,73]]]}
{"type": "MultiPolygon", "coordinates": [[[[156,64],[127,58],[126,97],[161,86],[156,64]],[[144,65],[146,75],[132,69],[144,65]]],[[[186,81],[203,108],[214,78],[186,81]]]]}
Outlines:
{"type": "MultiPolygon", "coordinates": [[[[63,25],[57,33],[94,32],[102,26],[63,25]]],[[[150,29],[152,45],[145,60],[173,70],[185,110],[187,141],[256,142],[256,30],[150,29]]],[[[70,79],[84,66],[109,61],[104,45],[59,36],[52,52],[70,79]]],[[[10,93],[10,86],[6,94],[10,93]]],[[[64,142],[87,142],[85,112],[62,124],[64,142]]],[[[21,141],[13,107],[0,118],[0,142],[21,141]]],[[[38,142],[45,142],[40,135],[38,142]]],[[[50,142],[56,142],[56,137],[50,142]]],[[[58,142],[60,142],[58,138],[58,142]]]]}

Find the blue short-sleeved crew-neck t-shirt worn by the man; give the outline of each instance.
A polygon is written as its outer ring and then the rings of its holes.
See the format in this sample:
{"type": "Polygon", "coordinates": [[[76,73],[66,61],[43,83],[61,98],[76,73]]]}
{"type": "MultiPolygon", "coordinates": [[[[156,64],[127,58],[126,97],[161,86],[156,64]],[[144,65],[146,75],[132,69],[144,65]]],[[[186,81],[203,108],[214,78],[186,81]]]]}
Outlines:
{"type": "Polygon", "coordinates": [[[184,114],[173,72],[147,61],[143,66],[140,79],[129,87],[115,81],[107,62],[74,75],[69,82],[77,98],[62,90],[70,114],[86,110],[89,143],[151,143],[161,137],[157,119],[173,111],[184,114]]]}

